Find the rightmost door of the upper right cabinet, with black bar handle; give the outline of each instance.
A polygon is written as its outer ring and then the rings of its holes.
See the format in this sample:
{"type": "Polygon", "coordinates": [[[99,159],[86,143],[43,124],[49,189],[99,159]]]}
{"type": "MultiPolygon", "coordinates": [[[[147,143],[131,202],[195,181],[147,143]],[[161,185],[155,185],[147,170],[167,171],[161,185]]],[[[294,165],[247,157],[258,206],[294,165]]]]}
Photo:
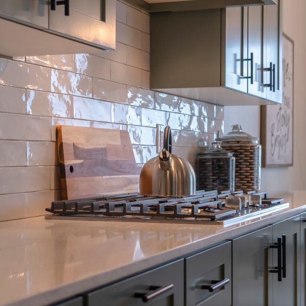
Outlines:
{"type": "Polygon", "coordinates": [[[264,69],[263,84],[266,98],[282,103],[282,32],[281,2],[264,6],[264,69]]]}

